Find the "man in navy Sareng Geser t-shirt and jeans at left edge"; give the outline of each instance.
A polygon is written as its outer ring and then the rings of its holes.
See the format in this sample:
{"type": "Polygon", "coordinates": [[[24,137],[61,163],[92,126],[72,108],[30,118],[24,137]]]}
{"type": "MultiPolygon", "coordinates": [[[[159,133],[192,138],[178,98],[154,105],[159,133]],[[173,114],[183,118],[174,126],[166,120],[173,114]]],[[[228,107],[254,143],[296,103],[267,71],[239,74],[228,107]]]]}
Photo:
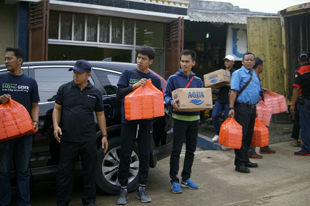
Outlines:
{"type": "Polygon", "coordinates": [[[10,171],[15,154],[17,175],[17,204],[30,205],[30,191],[28,167],[32,150],[32,134],[38,132],[40,101],[36,80],[23,74],[21,65],[24,52],[20,48],[6,48],[5,65],[8,73],[0,75],[0,103],[5,104],[14,99],[22,104],[29,112],[35,131],[29,135],[0,142],[0,205],[11,202],[10,171]]]}

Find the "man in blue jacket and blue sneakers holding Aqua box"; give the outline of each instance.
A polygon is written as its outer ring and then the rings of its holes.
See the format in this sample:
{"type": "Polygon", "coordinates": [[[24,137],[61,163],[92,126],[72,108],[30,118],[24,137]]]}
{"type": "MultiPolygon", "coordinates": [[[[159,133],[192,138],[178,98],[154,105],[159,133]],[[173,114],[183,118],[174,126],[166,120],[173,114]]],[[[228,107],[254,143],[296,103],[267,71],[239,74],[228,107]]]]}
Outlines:
{"type": "Polygon", "coordinates": [[[194,161],[194,152],[196,150],[199,111],[195,112],[180,112],[178,107],[179,100],[173,100],[171,92],[178,88],[201,88],[202,81],[196,77],[191,71],[195,65],[196,53],[191,50],[183,50],[181,52],[181,69],[174,75],[168,78],[164,100],[167,104],[173,106],[174,125],[173,125],[173,148],[170,156],[170,182],[174,193],[182,192],[181,187],[189,187],[190,189],[198,189],[198,185],[194,184],[191,179],[192,165],[194,161]],[[188,86],[189,84],[189,86],[188,86]],[[177,174],[179,172],[179,158],[183,145],[183,140],[186,138],[186,153],[184,158],[184,166],[182,171],[181,187],[177,174]]]}

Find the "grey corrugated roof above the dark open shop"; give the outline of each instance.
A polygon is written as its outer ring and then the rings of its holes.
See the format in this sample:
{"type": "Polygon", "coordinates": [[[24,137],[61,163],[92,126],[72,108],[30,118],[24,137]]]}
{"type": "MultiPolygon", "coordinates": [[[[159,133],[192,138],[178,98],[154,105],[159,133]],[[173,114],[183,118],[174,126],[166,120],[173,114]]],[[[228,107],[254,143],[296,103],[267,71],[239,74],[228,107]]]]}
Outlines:
{"type": "Polygon", "coordinates": [[[187,11],[190,21],[246,24],[247,17],[280,17],[278,14],[231,11],[187,11]]]}

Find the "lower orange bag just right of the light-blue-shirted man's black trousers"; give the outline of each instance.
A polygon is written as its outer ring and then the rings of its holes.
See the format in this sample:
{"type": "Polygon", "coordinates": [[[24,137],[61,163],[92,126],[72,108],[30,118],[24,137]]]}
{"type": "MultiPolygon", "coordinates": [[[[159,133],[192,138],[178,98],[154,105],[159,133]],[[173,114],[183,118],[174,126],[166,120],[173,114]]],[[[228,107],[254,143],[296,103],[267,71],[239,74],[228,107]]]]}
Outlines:
{"type": "Polygon", "coordinates": [[[268,128],[259,120],[255,119],[254,132],[251,145],[255,147],[265,147],[269,143],[268,128]]]}

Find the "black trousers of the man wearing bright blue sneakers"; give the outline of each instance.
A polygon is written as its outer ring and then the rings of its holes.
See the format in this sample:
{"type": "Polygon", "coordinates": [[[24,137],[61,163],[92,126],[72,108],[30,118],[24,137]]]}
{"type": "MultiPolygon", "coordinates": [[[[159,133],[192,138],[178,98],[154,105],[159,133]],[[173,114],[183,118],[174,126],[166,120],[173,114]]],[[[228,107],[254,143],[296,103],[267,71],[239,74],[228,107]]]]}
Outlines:
{"type": "Polygon", "coordinates": [[[170,156],[170,182],[179,183],[177,174],[179,172],[179,159],[183,141],[186,138],[186,151],[181,173],[182,180],[191,177],[194,152],[196,151],[199,120],[183,121],[174,119],[173,125],[173,148],[170,156]]]}

